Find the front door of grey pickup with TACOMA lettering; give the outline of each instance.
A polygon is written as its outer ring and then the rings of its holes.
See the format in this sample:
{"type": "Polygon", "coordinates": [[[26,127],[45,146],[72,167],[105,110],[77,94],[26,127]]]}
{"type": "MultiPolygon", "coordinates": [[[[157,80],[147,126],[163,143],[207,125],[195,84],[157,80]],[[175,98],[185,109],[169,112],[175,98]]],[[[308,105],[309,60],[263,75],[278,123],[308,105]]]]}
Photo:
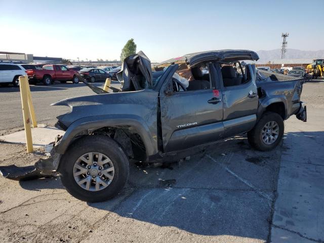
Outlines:
{"type": "Polygon", "coordinates": [[[183,91],[177,86],[177,79],[172,77],[174,71],[159,92],[164,151],[187,149],[220,140],[224,132],[221,90],[216,90],[210,79],[208,89],[183,91]]]}

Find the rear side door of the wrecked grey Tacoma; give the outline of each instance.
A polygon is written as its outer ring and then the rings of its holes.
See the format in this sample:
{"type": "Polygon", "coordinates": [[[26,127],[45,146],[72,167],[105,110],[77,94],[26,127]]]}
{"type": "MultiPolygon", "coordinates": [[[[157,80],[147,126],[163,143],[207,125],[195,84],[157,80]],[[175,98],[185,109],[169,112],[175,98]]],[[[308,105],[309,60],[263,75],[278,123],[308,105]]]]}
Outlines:
{"type": "Polygon", "coordinates": [[[256,124],[259,103],[255,67],[246,65],[245,70],[242,68],[243,73],[239,74],[233,66],[215,65],[222,74],[225,136],[250,131],[256,124]]]}

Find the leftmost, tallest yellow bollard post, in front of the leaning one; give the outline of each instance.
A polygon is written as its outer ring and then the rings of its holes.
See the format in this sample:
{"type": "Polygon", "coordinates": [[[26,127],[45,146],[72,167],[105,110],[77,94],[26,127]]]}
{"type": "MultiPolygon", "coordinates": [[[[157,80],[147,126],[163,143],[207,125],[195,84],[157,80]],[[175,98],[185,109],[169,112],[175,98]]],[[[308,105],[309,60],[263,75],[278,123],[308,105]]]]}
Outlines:
{"type": "Polygon", "coordinates": [[[33,148],[32,148],[32,137],[31,137],[31,129],[30,129],[30,117],[29,117],[30,113],[29,113],[29,106],[28,106],[27,85],[28,85],[28,77],[20,76],[19,86],[20,86],[22,112],[24,117],[27,153],[30,153],[33,151],[33,148]]]}

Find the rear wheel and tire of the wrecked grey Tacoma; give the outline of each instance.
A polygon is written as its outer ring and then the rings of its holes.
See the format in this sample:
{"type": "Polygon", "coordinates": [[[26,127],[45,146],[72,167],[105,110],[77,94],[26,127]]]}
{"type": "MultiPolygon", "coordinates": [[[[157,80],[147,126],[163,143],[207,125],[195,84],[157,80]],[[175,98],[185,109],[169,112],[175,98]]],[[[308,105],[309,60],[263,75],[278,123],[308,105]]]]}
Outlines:
{"type": "Polygon", "coordinates": [[[255,127],[248,132],[248,141],[257,150],[269,151],[279,144],[284,136],[284,130],[284,120],[278,113],[265,112],[255,127]],[[267,129],[268,125],[270,129],[267,129]],[[271,125],[274,127],[271,128],[271,125]],[[274,138],[275,140],[272,141],[274,138]]]}

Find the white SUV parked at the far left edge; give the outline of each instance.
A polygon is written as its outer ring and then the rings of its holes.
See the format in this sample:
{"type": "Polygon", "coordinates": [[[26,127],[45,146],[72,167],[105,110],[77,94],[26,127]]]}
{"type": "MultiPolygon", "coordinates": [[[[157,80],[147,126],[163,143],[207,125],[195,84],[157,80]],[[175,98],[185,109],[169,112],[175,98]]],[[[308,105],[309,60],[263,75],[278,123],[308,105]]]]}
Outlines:
{"type": "Polygon", "coordinates": [[[21,64],[12,62],[0,62],[0,85],[13,84],[19,87],[19,76],[26,75],[25,68],[21,64]]]}

